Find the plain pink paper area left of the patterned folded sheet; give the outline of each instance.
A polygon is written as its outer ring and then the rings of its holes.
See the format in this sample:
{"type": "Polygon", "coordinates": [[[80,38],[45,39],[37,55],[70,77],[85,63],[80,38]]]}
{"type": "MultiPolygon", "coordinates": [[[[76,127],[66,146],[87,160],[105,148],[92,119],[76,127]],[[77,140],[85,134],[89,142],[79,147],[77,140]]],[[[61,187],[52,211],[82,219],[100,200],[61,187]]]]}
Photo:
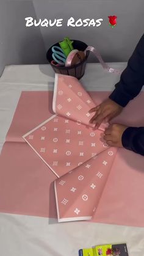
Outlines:
{"type": "Polygon", "coordinates": [[[22,92],[0,155],[0,211],[57,218],[56,179],[23,140],[23,134],[48,119],[53,92],[22,92]]]}

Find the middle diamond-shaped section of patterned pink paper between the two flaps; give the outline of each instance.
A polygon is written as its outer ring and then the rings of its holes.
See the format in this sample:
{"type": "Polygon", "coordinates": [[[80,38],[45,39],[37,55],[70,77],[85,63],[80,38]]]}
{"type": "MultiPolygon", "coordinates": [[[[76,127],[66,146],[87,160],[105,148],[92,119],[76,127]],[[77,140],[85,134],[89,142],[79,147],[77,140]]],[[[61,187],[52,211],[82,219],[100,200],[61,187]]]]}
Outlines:
{"type": "Polygon", "coordinates": [[[106,149],[101,131],[93,131],[79,122],[53,115],[24,136],[27,143],[56,174],[67,174],[106,149]]]}

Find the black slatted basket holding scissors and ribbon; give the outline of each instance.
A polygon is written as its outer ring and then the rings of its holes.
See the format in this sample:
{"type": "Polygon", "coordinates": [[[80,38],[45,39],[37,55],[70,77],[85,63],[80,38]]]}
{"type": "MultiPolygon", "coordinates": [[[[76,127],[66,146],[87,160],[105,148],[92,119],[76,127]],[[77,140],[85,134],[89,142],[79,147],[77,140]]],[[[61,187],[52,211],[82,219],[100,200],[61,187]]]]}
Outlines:
{"type": "MultiPolygon", "coordinates": [[[[52,46],[59,46],[59,43],[55,43],[52,46]]],[[[48,49],[46,53],[46,58],[48,59],[49,63],[51,64],[52,60],[52,46],[48,49]]],[[[84,51],[87,48],[86,43],[73,40],[73,48],[78,49],[79,51],[84,51]]],[[[65,66],[55,66],[51,64],[51,67],[54,69],[56,73],[63,74],[63,75],[69,75],[69,76],[75,76],[77,79],[81,79],[82,76],[84,76],[85,73],[85,65],[87,64],[87,58],[89,55],[89,51],[87,51],[85,59],[82,60],[79,64],[73,65],[71,67],[65,67],[65,66]]]]}

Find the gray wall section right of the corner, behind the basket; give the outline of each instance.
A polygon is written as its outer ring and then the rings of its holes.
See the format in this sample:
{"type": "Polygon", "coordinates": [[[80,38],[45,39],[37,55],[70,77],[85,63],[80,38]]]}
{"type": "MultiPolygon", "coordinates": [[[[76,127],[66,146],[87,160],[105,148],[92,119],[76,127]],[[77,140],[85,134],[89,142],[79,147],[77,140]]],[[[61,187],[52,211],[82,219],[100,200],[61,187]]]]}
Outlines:
{"type": "MultiPolygon", "coordinates": [[[[37,18],[103,18],[100,27],[41,27],[45,47],[68,35],[97,46],[106,61],[127,61],[144,32],[143,0],[43,0],[33,1],[37,18]],[[107,25],[109,15],[118,16],[117,27],[107,25]]],[[[63,23],[64,24],[64,23],[63,23]]],[[[91,61],[96,61],[91,56],[91,61]]]]}

